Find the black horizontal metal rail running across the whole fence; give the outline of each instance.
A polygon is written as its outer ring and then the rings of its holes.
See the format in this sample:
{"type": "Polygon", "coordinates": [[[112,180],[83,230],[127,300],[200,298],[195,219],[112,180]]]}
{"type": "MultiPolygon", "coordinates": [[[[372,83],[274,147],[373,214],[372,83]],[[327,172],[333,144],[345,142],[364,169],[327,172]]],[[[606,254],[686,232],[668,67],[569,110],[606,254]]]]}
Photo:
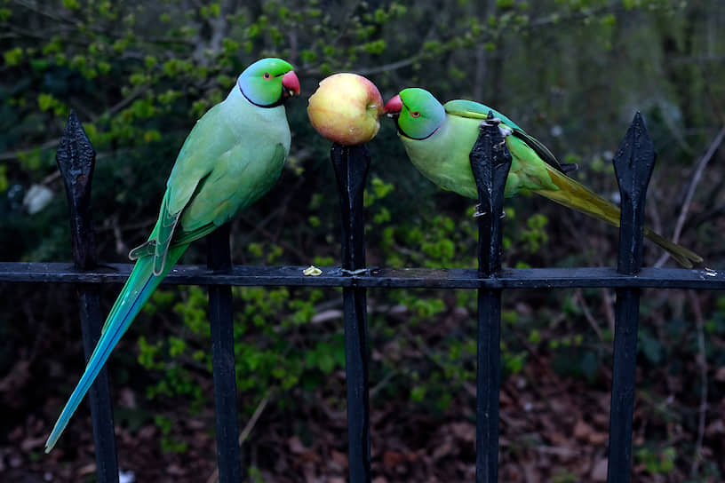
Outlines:
{"type": "MultiPolygon", "coordinates": [[[[0,262],[0,280],[34,283],[123,283],[133,265],[107,264],[79,272],[73,264],[0,262]]],[[[318,267],[319,276],[302,274],[307,266],[235,265],[215,273],[206,265],[176,265],[166,285],[288,287],[363,287],[366,289],[725,289],[725,271],[650,268],[625,275],[616,268],[503,268],[482,278],[471,268],[367,268],[349,274],[336,266],[318,267]]]]}

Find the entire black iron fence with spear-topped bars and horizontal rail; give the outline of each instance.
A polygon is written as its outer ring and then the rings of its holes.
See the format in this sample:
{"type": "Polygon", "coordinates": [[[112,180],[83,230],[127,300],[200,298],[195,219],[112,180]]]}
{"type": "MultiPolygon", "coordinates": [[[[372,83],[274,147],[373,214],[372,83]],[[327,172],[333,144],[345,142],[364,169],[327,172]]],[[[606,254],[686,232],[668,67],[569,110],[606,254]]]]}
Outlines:
{"type": "MultiPolygon", "coordinates": [[[[238,482],[243,468],[237,442],[235,360],[232,337],[234,285],[341,287],[345,319],[349,478],[370,482],[369,348],[365,296],[368,288],[478,289],[476,481],[498,480],[501,293],[505,289],[608,287],[616,289],[614,368],[609,418],[608,481],[626,483],[632,466],[632,422],[640,289],[725,289],[725,273],[708,269],[641,268],[644,199],[655,152],[641,116],[635,115],[614,164],[622,194],[617,269],[501,268],[503,191],[511,156],[498,127],[482,128],[471,153],[479,190],[478,269],[372,268],[365,265],[362,193],[370,155],[365,146],[332,146],[339,186],[342,260],[306,276],[302,266],[234,266],[228,226],[209,235],[208,266],[178,265],[163,283],[207,285],[217,419],[219,481],[238,482]]],[[[90,190],[95,153],[71,113],[57,153],[66,183],[75,264],[0,263],[0,281],[75,283],[86,358],[100,336],[99,284],[123,282],[131,265],[98,265],[90,190]]],[[[118,481],[113,416],[105,369],[89,392],[98,478],[118,481]]]]}

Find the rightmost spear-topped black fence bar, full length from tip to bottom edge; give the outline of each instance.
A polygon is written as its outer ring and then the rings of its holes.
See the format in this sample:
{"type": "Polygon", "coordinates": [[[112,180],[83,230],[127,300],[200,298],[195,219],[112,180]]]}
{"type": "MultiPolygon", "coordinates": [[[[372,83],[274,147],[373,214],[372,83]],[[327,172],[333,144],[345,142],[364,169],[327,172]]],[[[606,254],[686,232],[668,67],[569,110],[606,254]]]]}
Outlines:
{"type": "MultiPolygon", "coordinates": [[[[641,268],[645,194],[655,157],[644,120],[637,113],[613,160],[622,200],[618,273],[632,275],[641,268]]],[[[640,290],[617,289],[609,409],[609,483],[628,483],[630,480],[639,317],[640,290]]]]}

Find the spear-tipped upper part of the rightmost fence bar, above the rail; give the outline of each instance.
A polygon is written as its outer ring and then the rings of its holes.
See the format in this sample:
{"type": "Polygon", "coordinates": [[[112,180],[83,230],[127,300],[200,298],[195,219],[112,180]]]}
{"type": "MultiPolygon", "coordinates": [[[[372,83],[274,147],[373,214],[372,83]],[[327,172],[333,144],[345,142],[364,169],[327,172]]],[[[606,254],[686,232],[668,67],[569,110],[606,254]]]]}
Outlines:
{"type": "Polygon", "coordinates": [[[621,194],[619,273],[633,275],[642,265],[644,202],[656,157],[644,119],[638,112],[612,160],[621,194]]]}

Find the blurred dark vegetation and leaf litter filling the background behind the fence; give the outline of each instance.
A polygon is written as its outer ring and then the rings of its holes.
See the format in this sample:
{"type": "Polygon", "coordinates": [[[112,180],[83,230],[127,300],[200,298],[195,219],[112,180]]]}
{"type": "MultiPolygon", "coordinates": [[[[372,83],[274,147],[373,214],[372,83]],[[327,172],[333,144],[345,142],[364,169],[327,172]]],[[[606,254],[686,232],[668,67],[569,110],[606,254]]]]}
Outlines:
{"type": "MultiPolygon", "coordinates": [[[[337,264],[330,144],[305,107],[324,76],[352,71],[384,99],[422,86],[438,99],[496,107],[562,161],[578,162],[575,178],[612,197],[609,161],[641,111],[658,153],[650,225],[672,236],[685,210],[682,244],[725,269],[722,154],[695,176],[725,123],[723,29],[715,0],[0,0],[1,257],[71,259],[54,159],[70,108],[98,152],[100,260],[123,262],[153,227],[195,120],[245,66],[277,56],[296,67],[303,90],[287,106],[291,155],[275,188],[235,220],[236,264],[337,264]]],[[[383,120],[370,142],[369,264],[475,266],[472,202],[422,178],[395,138],[383,120]]],[[[617,231],[609,226],[526,194],[507,200],[506,214],[507,266],[615,264],[617,231]]],[[[648,265],[673,264],[660,256],[648,247],[648,265]]],[[[182,259],[204,260],[203,242],[182,259]]],[[[118,289],[103,288],[103,306],[118,289]]],[[[504,480],[601,480],[613,298],[602,289],[506,292],[504,480]]],[[[252,478],[340,481],[347,437],[339,291],[237,288],[235,304],[252,478]]],[[[378,483],[471,479],[474,292],[370,290],[369,304],[378,483]]],[[[4,480],[93,480],[85,409],[58,450],[42,452],[83,369],[76,312],[72,287],[0,284],[4,480]]],[[[636,479],[720,481],[725,297],[646,290],[641,313],[636,479]]],[[[120,464],[138,481],[203,481],[214,469],[206,320],[203,289],[159,290],[111,358],[120,464]]]]}

